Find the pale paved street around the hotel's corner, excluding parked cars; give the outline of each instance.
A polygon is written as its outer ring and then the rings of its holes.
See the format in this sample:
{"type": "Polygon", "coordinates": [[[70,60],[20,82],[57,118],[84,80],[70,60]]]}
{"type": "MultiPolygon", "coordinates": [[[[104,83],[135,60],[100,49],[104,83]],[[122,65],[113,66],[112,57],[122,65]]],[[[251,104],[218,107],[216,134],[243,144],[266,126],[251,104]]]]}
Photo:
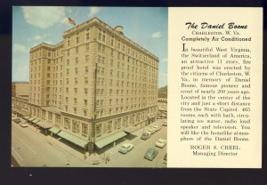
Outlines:
{"type": "MultiPolygon", "coordinates": [[[[161,125],[163,120],[158,120],[145,127],[145,131],[152,125],[161,125]]],[[[22,128],[19,124],[12,123],[12,157],[20,166],[58,166],[58,167],[166,167],[163,157],[166,147],[158,149],[158,156],[153,161],[144,158],[145,151],[154,147],[159,138],[166,139],[166,126],[151,135],[147,141],[140,139],[143,129],[117,141],[117,146],[106,151],[98,152],[100,155],[88,156],[73,149],[60,138],[41,133],[34,125],[22,128]],[[134,149],[128,154],[121,154],[117,149],[125,142],[134,144],[134,149]],[[105,162],[104,156],[110,154],[110,161],[105,162]],[[90,159],[98,157],[100,164],[93,165],[90,159]]]]}

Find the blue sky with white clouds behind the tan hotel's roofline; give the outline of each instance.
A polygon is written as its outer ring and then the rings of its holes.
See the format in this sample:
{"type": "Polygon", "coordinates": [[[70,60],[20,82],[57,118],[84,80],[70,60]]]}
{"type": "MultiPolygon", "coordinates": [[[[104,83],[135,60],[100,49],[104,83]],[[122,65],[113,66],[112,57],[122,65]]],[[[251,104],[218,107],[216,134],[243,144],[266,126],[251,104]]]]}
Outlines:
{"type": "Polygon", "coordinates": [[[13,6],[12,81],[28,81],[29,49],[61,42],[74,27],[68,17],[76,25],[97,17],[112,28],[123,26],[126,37],[158,57],[158,87],[167,84],[166,7],[13,6]]]}

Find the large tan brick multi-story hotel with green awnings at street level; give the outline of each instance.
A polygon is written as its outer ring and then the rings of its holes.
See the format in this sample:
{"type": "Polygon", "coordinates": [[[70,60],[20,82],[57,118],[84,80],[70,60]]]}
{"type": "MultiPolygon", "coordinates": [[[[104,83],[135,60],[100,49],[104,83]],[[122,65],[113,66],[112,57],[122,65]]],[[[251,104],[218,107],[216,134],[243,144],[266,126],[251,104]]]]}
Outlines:
{"type": "Polygon", "coordinates": [[[29,117],[44,129],[92,150],[156,121],[158,58],[121,26],[93,18],[29,54],[29,117]]]}

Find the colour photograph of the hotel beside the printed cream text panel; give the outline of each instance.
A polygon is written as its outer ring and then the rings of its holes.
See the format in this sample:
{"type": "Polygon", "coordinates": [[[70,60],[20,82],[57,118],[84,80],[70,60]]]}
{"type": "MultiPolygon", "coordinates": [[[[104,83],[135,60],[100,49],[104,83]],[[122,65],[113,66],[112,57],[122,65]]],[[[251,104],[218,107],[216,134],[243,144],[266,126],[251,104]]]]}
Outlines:
{"type": "Polygon", "coordinates": [[[12,166],[167,160],[167,7],[12,7],[12,166]]]}

